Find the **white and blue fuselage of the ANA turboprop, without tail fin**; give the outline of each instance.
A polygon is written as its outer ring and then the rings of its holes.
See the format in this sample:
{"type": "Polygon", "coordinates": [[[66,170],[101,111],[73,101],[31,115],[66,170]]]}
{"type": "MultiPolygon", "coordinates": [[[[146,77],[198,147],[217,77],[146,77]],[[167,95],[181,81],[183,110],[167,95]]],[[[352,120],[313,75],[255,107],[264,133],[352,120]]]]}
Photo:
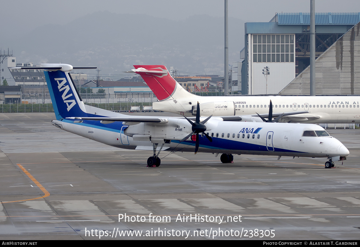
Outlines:
{"type": "MultiPolygon", "coordinates": [[[[332,136],[302,136],[306,130],[324,131],[312,124],[225,122],[212,117],[206,123],[212,142],[203,137],[200,152],[258,154],[297,157],[336,157],[348,155],[346,147],[332,136]]],[[[195,142],[179,142],[191,133],[191,126],[183,118],[169,118],[167,123],[121,122],[92,125],[95,121],[54,120],[53,125],[113,147],[152,150],[153,140],[171,140],[163,150],[193,152],[195,142]],[[132,136],[134,138],[132,138],[132,136]],[[135,138],[136,136],[136,138],[135,138]],[[143,136],[143,138],[139,138],[143,136]],[[137,139],[137,140],[134,140],[137,139]],[[141,139],[142,141],[140,141],[141,139]]]]}

